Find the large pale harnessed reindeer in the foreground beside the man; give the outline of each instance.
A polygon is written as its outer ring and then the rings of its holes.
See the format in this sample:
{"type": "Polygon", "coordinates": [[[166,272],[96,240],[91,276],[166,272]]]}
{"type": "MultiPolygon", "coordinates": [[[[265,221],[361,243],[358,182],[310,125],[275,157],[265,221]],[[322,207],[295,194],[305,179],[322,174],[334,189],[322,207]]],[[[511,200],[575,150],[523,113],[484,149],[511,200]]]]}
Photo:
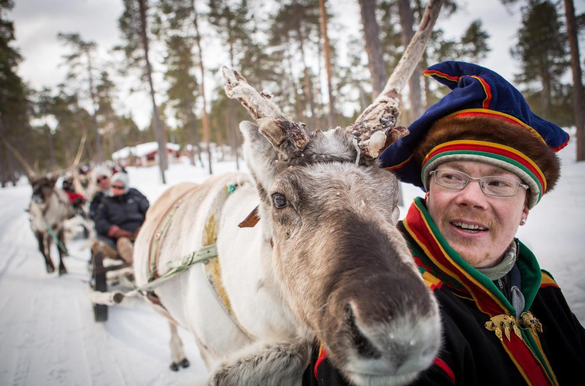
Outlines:
{"type": "Polygon", "coordinates": [[[441,342],[438,306],[395,228],[398,181],[377,157],[408,133],[394,126],[398,94],[441,5],[429,1],[386,88],[346,129],[309,134],[238,72],[222,69],[227,94],[257,123],[239,126],[251,177],[168,189],[135,243],[143,286],[215,241],[217,259],[146,294],[170,323],[171,368],[188,365],[177,325],[195,336],[213,385],[300,384],[315,339],[356,385],[407,384],[431,366],[441,342]]]}

